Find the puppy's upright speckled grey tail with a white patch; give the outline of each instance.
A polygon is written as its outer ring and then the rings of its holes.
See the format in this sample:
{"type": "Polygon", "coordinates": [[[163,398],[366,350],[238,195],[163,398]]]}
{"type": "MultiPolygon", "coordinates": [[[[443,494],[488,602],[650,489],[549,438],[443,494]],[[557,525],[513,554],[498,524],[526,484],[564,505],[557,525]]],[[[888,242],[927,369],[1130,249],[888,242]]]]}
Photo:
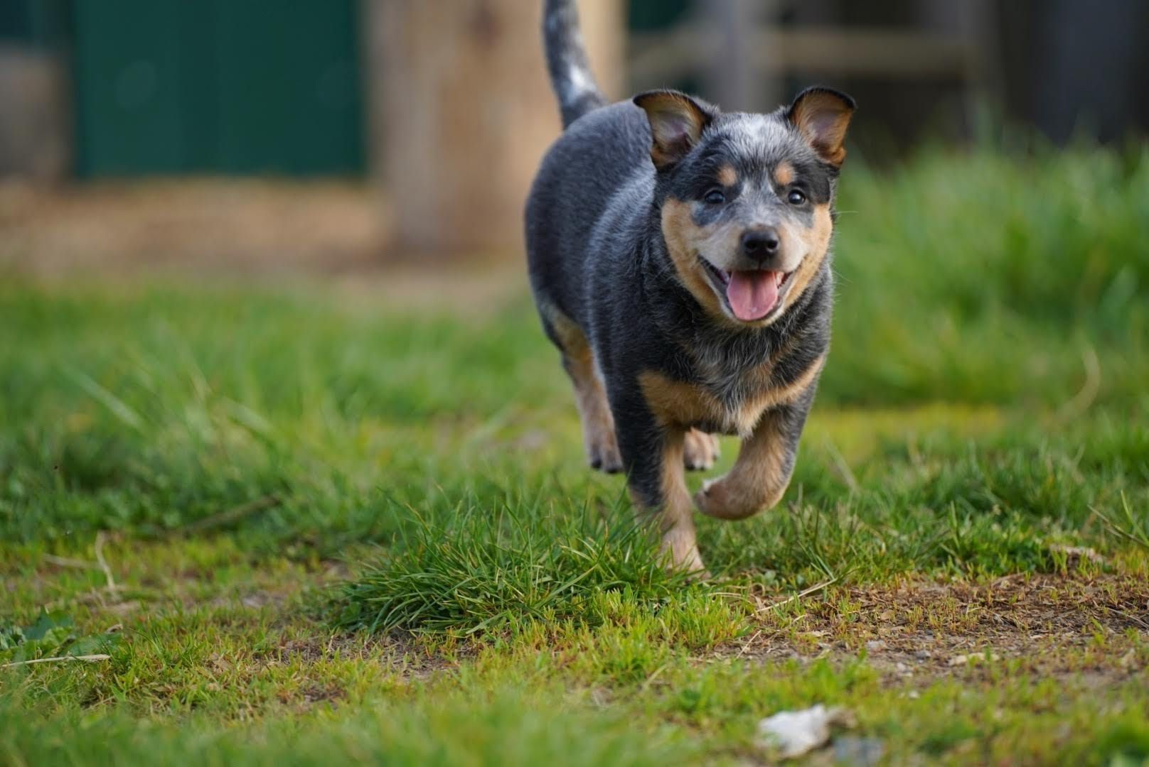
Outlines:
{"type": "Polygon", "coordinates": [[[563,127],[607,103],[594,82],[578,28],[574,0],[546,0],[542,39],[547,51],[550,86],[558,96],[563,127]]]}

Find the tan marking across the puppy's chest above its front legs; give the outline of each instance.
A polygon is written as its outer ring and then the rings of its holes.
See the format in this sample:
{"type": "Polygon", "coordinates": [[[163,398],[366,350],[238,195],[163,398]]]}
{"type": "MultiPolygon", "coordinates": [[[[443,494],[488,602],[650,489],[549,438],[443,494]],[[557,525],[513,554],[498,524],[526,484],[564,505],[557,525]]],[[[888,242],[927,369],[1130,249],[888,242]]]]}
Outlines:
{"type": "Polygon", "coordinates": [[[699,424],[712,424],[726,433],[746,437],[754,432],[763,412],[797,400],[817,379],[823,362],[825,357],[818,357],[805,372],[786,386],[774,385],[769,371],[750,371],[747,374],[748,382],[756,392],[735,408],[727,408],[703,386],[676,381],[655,371],[639,373],[639,386],[650,412],[665,427],[689,428],[699,424]]]}

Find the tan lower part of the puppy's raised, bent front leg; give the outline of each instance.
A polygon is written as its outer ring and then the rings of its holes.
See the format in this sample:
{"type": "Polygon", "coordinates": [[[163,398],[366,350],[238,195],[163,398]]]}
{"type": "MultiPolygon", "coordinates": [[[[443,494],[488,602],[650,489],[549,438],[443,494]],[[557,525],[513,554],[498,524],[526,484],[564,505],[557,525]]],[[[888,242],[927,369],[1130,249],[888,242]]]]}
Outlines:
{"type": "Polygon", "coordinates": [[[781,417],[768,411],[754,434],[742,441],[730,472],[703,485],[694,496],[699,510],[718,519],[746,519],[770,509],[789,486],[788,451],[781,417]]]}

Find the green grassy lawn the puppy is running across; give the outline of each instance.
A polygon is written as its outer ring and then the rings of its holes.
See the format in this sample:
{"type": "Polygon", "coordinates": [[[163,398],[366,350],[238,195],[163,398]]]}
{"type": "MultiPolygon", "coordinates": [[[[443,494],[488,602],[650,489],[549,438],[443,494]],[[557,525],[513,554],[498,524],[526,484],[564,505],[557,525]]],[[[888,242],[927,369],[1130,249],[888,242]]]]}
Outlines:
{"type": "Polygon", "coordinates": [[[584,466],[517,270],[5,274],[0,764],[754,764],[818,703],[816,764],[1149,759],[1149,154],[841,193],[794,482],[699,520],[707,582],[584,466]]]}

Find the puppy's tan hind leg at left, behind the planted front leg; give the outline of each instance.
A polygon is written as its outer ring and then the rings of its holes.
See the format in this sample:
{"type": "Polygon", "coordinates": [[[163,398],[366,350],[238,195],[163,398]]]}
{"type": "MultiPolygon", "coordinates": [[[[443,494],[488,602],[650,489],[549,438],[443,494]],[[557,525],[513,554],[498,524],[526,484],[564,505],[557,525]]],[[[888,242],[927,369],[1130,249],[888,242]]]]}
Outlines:
{"type": "Polygon", "coordinates": [[[546,312],[563,349],[564,367],[574,385],[574,404],[583,423],[587,463],[608,473],[619,472],[623,470],[623,457],[615,436],[615,418],[594,364],[591,344],[583,330],[566,315],[554,307],[547,308],[546,312]]]}

